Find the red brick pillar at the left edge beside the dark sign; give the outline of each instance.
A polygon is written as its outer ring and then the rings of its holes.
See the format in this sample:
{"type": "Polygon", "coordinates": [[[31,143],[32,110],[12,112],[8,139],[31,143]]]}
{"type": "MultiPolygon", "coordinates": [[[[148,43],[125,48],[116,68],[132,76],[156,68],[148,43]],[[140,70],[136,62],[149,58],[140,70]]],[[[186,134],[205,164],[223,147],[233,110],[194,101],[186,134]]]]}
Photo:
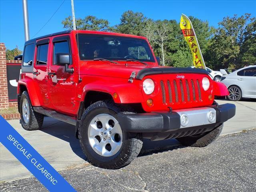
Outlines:
{"type": "Polygon", "coordinates": [[[6,47],[0,43],[0,108],[9,107],[7,75],[6,75],[6,47]]]}

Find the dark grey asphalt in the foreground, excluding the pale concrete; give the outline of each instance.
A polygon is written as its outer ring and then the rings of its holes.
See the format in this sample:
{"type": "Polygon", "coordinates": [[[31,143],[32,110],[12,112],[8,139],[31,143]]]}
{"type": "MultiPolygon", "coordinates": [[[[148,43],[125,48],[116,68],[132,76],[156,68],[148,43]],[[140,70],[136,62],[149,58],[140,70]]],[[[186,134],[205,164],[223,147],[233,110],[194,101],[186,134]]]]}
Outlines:
{"type": "MultiPolygon", "coordinates": [[[[60,171],[77,191],[256,191],[256,130],[221,136],[208,147],[171,147],[129,166],[105,170],[80,164],[60,171]]],[[[47,191],[34,177],[2,182],[1,191],[47,191]]]]}

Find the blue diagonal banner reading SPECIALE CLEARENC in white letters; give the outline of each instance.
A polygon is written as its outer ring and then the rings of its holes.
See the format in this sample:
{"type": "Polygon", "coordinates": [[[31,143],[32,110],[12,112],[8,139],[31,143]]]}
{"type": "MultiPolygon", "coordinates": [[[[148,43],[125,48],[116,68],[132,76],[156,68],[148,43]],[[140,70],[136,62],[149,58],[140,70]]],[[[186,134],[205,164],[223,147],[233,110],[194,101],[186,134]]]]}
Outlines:
{"type": "Polygon", "coordinates": [[[76,190],[2,117],[0,142],[49,190],[76,190]]]}

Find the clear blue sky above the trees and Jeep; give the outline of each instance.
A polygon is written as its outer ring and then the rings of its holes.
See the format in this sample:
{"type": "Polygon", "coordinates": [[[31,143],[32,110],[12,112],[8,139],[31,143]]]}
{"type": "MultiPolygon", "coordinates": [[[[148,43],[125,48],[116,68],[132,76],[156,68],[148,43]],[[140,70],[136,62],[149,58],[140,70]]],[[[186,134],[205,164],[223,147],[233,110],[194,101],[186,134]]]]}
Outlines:
{"type": "MultiPolygon", "coordinates": [[[[207,20],[210,26],[218,27],[218,22],[226,16],[234,16],[234,14],[241,16],[245,13],[256,16],[256,1],[74,0],[74,9],[76,18],[93,15],[107,19],[111,26],[120,22],[123,12],[132,10],[142,12],[144,16],[154,20],[175,19],[179,21],[183,13],[204,21],[207,20]]],[[[61,21],[71,15],[70,0],[28,0],[30,38],[65,30],[61,21]],[[60,6],[61,4],[62,6],[60,6]],[[56,13],[54,14],[54,12],[56,13]],[[53,14],[54,16],[51,18],[53,14]],[[49,19],[50,21],[46,24],[49,19]],[[41,28],[42,30],[40,30],[41,28]]],[[[0,0],[0,42],[4,42],[9,49],[16,46],[23,49],[24,41],[22,0],[0,0]]]]}

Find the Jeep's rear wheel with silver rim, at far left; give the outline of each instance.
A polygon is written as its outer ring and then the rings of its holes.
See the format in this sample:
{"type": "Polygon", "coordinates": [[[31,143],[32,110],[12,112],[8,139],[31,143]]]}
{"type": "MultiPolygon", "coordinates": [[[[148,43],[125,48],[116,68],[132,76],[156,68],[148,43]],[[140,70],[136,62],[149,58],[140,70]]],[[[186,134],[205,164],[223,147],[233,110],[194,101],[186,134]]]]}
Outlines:
{"type": "Polygon", "coordinates": [[[20,118],[21,126],[27,131],[40,130],[44,122],[44,115],[33,110],[26,91],[22,93],[20,98],[20,118]]]}

